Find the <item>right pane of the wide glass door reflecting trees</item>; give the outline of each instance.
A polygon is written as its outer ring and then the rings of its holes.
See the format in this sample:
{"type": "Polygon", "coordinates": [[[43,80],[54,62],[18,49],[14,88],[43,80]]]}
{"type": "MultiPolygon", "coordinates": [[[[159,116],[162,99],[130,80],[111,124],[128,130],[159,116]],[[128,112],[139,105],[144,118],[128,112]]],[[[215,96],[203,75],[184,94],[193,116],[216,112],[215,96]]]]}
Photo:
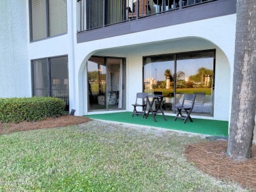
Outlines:
{"type": "Polygon", "coordinates": [[[213,115],[215,52],[177,54],[176,92],[196,94],[193,113],[213,115]]]}

